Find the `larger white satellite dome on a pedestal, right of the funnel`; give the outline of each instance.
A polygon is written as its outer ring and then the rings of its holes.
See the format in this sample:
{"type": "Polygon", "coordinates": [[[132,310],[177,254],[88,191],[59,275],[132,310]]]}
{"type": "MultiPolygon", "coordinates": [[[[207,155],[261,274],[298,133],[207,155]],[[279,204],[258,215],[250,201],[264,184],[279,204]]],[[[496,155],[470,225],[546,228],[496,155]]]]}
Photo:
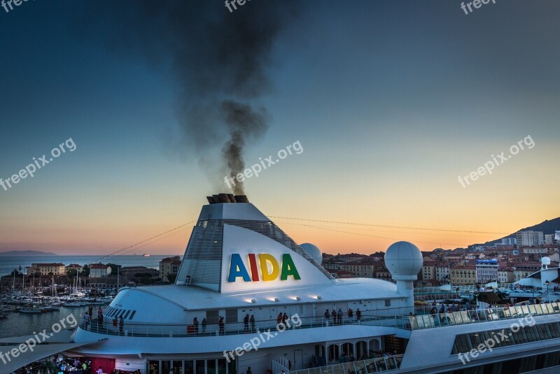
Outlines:
{"type": "Polygon", "coordinates": [[[393,243],[385,252],[385,266],[394,280],[416,280],[422,264],[422,252],[412,243],[393,243]]]}

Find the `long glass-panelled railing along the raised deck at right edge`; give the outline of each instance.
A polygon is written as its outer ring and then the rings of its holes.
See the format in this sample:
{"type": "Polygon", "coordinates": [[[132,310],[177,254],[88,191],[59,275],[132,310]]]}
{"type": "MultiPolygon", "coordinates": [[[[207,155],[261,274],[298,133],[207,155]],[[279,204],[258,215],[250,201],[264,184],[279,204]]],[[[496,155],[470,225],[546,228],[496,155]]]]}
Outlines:
{"type": "Polygon", "coordinates": [[[409,329],[431,329],[433,327],[452,326],[455,324],[472,324],[478,322],[512,319],[528,315],[552,315],[560,313],[560,303],[540,303],[517,305],[504,308],[461,310],[407,317],[409,329]]]}

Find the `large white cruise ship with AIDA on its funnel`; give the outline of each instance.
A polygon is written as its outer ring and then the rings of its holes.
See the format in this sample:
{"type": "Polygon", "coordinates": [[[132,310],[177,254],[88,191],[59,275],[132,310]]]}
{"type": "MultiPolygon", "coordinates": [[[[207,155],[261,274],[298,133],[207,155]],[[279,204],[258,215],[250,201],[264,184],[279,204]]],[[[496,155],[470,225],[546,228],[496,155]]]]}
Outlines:
{"type": "Polygon", "coordinates": [[[121,289],[103,323],[80,319],[64,354],[104,373],[560,370],[559,303],[416,315],[423,260],[412,243],[386,250],[394,282],[337,279],[316,246],[295,243],[246,196],[208,202],[175,284],[121,289]]]}

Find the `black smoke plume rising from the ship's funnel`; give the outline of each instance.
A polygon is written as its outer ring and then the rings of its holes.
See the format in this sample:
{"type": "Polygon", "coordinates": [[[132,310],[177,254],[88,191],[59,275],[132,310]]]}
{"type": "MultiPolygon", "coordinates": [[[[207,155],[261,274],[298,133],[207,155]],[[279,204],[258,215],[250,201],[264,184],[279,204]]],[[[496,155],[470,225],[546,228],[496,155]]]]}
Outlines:
{"type": "MultiPolygon", "coordinates": [[[[190,146],[214,187],[223,189],[223,172],[242,172],[246,146],[269,126],[258,99],[272,88],[274,45],[297,6],[253,0],[230,13],[223,1],[99,1],[87,24],[97,22],[90,34],[111,50],[172,72],[181,129],[175,141],[190,146]]],[[[234,192],[243,194],[243,185],[234,192]]]]}

